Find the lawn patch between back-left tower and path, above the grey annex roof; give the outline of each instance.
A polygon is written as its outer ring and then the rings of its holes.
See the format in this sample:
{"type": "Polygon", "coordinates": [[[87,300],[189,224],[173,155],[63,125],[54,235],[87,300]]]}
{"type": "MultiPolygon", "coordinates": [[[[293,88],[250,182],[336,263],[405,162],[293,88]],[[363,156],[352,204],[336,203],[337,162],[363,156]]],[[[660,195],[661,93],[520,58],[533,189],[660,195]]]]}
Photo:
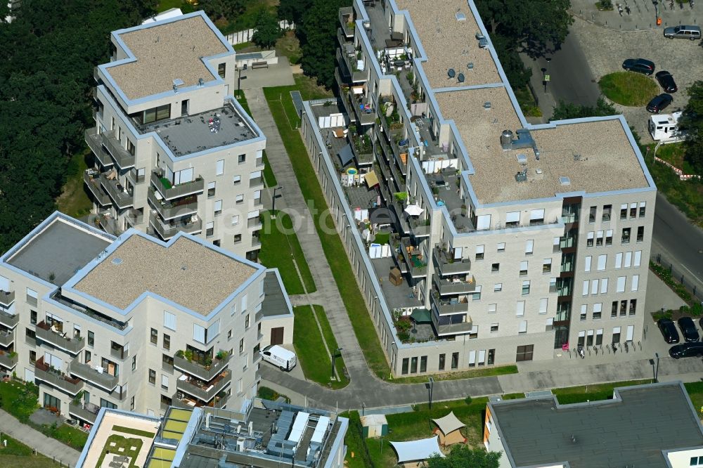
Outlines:
{"type": "Polygon", "coordinates": [[[262,214],[264,228],[261,230],[259,239],[262,242],[262,249],[259,252],[259,260],[264,266],[278,268],[280,278],[288,294],[304,294],[315,292],[317,287],[312,279],[310,268],[305,260],[297,235],[293,230],[293,222],[288,214],[278,212],[276,219],[271,219],[271,212],[262,214]],[[298,271],[293,264],[297,264],[300,277],[302,277],[305,288],[303,288],[298,276],[298,271]]]}

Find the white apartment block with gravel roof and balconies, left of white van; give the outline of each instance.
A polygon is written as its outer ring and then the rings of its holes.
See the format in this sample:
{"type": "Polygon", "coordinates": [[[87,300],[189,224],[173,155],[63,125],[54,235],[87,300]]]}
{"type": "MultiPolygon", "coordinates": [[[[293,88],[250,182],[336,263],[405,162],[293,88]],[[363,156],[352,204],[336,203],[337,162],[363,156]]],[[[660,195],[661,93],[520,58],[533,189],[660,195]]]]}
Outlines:
{"type": "Polygon", "coordinates": [[[56,212],[0,257],[0,291],[0,365],[84,424],[246,408],[260,347],[292,339],[278,271],[186,233],[115,238],[56,212]]]}

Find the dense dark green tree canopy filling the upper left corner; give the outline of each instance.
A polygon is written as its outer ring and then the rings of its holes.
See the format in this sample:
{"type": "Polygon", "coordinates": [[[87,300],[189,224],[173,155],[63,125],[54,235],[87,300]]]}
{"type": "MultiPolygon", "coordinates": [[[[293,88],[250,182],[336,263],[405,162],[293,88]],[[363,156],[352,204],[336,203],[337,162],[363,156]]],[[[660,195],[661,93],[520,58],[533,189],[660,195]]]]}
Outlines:
{"type": "Polygon", "coordinates": [[[153,3],[22,0],[0,22],[0,252],[56,207],[70,156],[94,125],[93,67],[109,60],[110,31],[138,24],[153,3]]]}

